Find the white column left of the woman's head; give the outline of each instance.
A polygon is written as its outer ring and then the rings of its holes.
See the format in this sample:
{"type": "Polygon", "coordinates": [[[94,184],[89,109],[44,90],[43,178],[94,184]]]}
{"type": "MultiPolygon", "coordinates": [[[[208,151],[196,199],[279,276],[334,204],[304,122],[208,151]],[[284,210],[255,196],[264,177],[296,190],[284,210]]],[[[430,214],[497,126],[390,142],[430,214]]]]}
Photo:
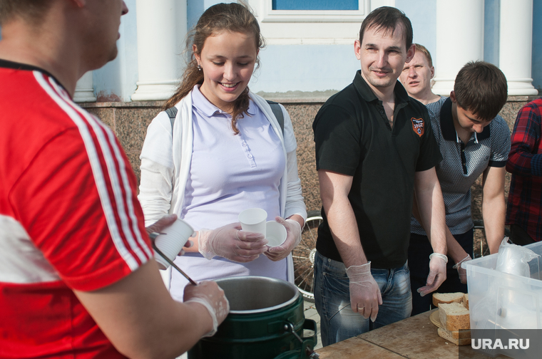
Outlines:
{"type": "Polygon", "coordinates": [[[184,61],[186,0],[137,0],[138,88],[132,100],[165,100],[173,94],[184,61]]]}

